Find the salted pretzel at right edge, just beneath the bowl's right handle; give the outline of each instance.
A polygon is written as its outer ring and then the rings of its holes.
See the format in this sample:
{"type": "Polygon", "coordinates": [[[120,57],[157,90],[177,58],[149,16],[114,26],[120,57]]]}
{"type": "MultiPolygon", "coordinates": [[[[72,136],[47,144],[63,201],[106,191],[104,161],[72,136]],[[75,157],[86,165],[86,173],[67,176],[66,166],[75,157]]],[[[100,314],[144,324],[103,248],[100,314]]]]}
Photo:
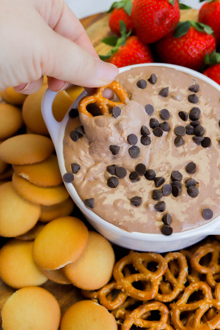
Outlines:
{"type": "Polygon", "coordinates": [[[218,263],[220,255],[220,243],[214,242],[211,244],[206,244],[198,248],[192,258],[191,258],[191,265],[198,273],[206,275],[206,281],[211,286],[211,288],[215,288],[217,282],[215,281],[214,277],[215,274],[220,273],[220,264],[218,263]],[[200,265],[200,259],[211,253],[211,261],[208,264],[208,267],[200,265]]]}

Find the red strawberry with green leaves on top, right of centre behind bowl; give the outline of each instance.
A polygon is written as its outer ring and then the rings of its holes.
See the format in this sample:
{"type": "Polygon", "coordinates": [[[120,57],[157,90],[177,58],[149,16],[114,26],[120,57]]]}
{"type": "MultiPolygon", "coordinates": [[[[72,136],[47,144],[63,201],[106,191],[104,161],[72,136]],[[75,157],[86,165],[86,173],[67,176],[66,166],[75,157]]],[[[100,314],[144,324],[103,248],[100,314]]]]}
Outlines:
{"type": "Polygon", "coordinates": [[[158,42],[158,55],[164,63],[199,71],[204,63],[205,54],[216,48],[212,33],[212,29],[203,23],[181,22],[175,32],[169,33],[158,42]]]}

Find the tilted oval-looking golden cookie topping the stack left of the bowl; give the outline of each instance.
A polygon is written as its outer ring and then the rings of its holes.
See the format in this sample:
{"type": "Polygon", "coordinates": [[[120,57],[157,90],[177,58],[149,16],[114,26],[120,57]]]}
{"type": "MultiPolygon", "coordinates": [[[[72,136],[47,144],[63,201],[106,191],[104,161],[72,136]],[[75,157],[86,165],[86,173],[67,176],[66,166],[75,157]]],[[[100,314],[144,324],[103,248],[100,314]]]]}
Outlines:
{"type": "Polygon", "coordinates": [[[53,143],[45,136],[21,134],[0,145],[0,159],[9,164],[33,164],[45,160],[54,151],[53,143]]]}

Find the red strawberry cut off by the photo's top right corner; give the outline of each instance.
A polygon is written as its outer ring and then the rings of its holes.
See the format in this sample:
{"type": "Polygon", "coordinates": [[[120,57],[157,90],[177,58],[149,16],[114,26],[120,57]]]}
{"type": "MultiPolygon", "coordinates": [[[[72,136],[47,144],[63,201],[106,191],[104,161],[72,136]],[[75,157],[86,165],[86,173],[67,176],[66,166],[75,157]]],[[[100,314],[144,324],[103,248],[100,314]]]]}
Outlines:
{"type": "Polygon", "coordinates": [[[204,3],[199,11],[199,22],[211,26],[212,30],[214,31],[216,44],[220,44],[220,1],[209,0],[208,2],[204,3]]]}

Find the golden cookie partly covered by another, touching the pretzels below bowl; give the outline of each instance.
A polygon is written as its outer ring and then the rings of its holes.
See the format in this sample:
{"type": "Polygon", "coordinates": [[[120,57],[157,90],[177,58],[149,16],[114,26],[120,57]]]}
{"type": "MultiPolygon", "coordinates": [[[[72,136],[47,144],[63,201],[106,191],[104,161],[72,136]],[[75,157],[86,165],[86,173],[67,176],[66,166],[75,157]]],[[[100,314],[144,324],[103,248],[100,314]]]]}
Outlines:
{"type": "Polygon", "coordinates": [[[113,248],[102,235],[89,231],[88,243],[80,258],[64,267],[66,277],[83,290],[97,290],[108,283],[115,264],[113,248]]]}

